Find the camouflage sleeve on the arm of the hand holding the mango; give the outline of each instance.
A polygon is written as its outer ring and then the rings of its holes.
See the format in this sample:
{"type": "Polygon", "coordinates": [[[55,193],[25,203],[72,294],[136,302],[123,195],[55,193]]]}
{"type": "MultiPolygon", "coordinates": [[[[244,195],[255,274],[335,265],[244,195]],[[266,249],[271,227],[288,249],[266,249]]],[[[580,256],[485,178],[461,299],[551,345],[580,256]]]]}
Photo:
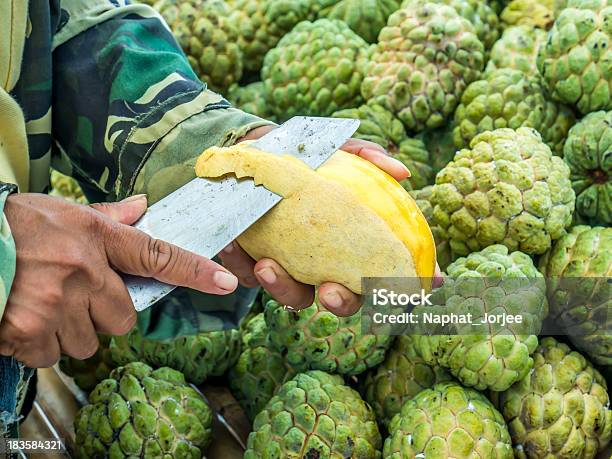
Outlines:
{"type": "MultiPolygon", "coordinates": [[[[53,67],[54,161],[71,166],[90,200],[147,193],[153,203],[194,177],[207,147],[271,124],[208,91],[145,5],[63,0],[53,67]]],[[[177,289],[141,313],[139,325],[156,339],[236,327],[255,293],[177,289]]]]}

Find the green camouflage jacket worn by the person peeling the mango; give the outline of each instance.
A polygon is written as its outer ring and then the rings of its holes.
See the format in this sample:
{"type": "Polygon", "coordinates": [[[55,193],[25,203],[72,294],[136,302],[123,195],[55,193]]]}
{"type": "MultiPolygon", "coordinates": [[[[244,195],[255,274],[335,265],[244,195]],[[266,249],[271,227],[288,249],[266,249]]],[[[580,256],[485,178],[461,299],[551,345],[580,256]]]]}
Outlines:
{"type": "MultiPolygon", "coordinates": [[[[13,2],[3,3],[0,16],[3,8],[10,15],[13,2]]],[[[6,59],[6,29],[0,28],[0,59],[6,59]]],[[[0,148],[0,156],[13,155],[0,157],[0,180],[11,177],[5,165],[29,164],[20,191],[45,192],[53,166],[75,177],[91,202],[146,193],[153,203],[194,176],[204,149],[270,124],[207,90],[149,6],[30,0],[25,34],[18,79],[4,89],[0,81],[0,91],[21,107],[27,134],[27,148],[0,148]],[[29,155],[29,162],[14,155],[29,155]]],[[[0,124],[2,117],[0,104],[0,124]]],[[[0,317],[15,271],[2,214],[6,197],[0,194],[0,317]]],[[[141,315],[139,326],[157,339],[235,326],[253,297],[246,289],[227,297],[177,291],[141,315]]]]}

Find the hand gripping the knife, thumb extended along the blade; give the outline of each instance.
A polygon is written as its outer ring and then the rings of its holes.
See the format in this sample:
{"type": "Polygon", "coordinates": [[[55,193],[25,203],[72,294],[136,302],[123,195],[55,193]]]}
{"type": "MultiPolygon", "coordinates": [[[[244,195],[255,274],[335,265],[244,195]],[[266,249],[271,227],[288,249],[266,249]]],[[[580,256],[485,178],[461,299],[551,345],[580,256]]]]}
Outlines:
{"type": "Polygon", "coordinates": [[[17,270],[2,321],[0,354],[33,368],[60,353],[84,359],[96,333],[122,335],[136,311],[115,269],[224,295],[236,277],[132,228],[147,208],[144,196],[91,207],[40,194],[8,198],[5,214],[17,248],[17,270]]]}

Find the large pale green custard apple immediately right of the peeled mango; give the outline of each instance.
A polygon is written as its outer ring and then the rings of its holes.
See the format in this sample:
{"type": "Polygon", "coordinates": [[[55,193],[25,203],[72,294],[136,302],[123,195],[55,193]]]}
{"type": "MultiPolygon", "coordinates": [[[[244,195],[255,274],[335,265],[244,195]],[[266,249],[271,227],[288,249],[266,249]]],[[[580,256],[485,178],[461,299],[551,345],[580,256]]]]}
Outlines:
{"type": "Polygon", "coordinates": [[[436,176],[434,223],[459,256],[498,243],[542,254],[571,223],[569,174],[532,129],[479,134],[436,176]]]}

